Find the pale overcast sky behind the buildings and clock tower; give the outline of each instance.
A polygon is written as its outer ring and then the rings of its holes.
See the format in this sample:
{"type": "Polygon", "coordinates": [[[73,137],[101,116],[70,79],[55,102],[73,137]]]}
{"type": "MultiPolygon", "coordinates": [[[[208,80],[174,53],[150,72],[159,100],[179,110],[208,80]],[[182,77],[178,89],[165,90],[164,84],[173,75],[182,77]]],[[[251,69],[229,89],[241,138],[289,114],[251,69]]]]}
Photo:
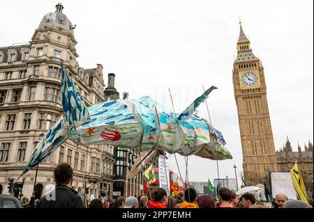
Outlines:
{"type": "MultiPolygon", "coordinates": [[[[213,125],[223,132],[234,159],[219,161],[220,177],[242,171],[242,152],[232,68],[239,17],[255,56],[264,65],[276,149],[289,136],[313,141],[313,1],[74,1],[63,13],[75,29],[77,60],[83,68],[103,64],[116,74],[116,88],[130,98],[150,95],[177,113],[218,87],[207,100],[213,125]],[[258,54],[257,54],[258,51],[258,54]]],[[[31,40],[45,13],[57,1],[1,1],[0,47],[31,40]],[[5,2],[5,3],[4,3],[5,2]]],[[[206,106],[199,116],[208,119],[206,106]]],[[[177,156],[179,157],[179,156],[177,156]]],[[[177,171],[174,157],[170,168],[177,171]]],[[[179,157],[184,169],[184,159],[179,157]]],[[[184,171],[184,170],[182,170],[184,171]]],[[[183,173],[183,172],[181,172],[183,173]]],[[[217,177],[216,161],[189,157],[190,181],[217,177]]],[[[239,175],[238,175],[239,176],[239,175]]]]}

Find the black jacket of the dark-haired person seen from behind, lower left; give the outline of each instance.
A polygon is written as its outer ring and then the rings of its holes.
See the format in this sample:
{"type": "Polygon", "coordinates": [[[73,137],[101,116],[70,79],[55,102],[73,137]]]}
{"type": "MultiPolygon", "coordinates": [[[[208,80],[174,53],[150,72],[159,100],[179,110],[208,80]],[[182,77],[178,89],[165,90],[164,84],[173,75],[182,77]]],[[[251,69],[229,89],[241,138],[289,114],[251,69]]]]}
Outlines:
{"type": "Polygon", "coordinates": [[[82,198],[77,195],[77,191],[59,185],[43,196],[36,208],[84,208],[84,204],[82,198]]]}

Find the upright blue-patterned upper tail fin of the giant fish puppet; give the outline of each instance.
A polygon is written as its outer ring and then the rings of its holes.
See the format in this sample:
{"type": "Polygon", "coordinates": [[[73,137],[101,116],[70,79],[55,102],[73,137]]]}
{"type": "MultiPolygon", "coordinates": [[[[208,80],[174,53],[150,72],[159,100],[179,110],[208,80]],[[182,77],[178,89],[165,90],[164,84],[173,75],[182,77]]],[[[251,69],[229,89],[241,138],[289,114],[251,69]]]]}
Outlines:
{"type": "Polygon", "coordinates": [[[89,111],[80,92],[62,65],[61,101],[64,111],[64,124],[78,127],[89,120],[89,111]]]}

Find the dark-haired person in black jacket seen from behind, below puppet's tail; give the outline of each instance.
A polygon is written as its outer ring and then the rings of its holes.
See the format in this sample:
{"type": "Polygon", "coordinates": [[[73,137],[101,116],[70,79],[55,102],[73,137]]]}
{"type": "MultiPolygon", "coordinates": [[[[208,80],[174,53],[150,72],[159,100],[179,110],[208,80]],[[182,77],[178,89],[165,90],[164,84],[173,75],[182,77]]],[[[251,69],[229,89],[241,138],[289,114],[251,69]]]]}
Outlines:
{"type": "Polygon", "coordinates": [[[71,189],[73,169],[68,164],[60,164],[54,169],[56,188],[39,200],[38,208],[84,208],[82,198],[71,189]]]}

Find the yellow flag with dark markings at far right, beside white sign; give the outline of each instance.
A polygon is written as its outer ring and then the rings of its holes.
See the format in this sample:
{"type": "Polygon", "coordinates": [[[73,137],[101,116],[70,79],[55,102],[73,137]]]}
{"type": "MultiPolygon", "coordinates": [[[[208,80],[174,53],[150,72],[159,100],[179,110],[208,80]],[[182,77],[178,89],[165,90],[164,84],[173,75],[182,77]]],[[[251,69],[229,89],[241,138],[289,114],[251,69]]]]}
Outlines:
{"type": "Polygon", "coordinates": [[[299,171],[299,167],[297,164],[297,160],[295,161],[294,167],[290,170],[293,187],[297,193],[298,200],[302,200],[308,204],[308,198],[306,196],[306,189],[304,186],[304,182],[301,177],[301,172],[299,171]]]}

